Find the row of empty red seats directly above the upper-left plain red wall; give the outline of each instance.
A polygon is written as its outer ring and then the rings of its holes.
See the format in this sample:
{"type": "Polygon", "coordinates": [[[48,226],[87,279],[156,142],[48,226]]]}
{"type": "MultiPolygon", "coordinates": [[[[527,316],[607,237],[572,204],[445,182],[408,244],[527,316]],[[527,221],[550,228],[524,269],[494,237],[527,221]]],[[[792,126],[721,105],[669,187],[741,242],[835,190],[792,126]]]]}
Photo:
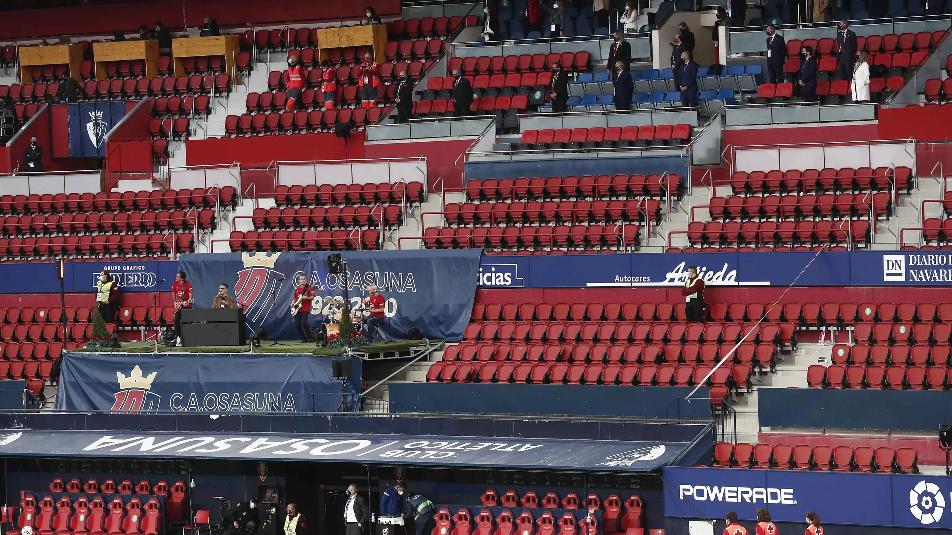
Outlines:
{"type": "Polygon", "coordinates": [[[228,115],[225,130],[229,136],[264,136],[266,134],[307,134],[326,132],[338,124],[363,128],[374,124],[389,113],[389,108],[358,107],[355,109],[312,109],[310,111],[282,111],[251,115],[228,115]]]}

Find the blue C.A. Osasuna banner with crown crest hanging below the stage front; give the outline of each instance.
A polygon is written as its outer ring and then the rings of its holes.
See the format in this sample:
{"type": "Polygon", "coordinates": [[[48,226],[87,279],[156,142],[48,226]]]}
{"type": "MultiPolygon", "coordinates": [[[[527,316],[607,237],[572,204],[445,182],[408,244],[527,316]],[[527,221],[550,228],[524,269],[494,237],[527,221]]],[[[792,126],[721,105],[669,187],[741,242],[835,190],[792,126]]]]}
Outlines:
{"type": "MultiPolygon", "coordinates": [[[[354,394],[361,392],[361,360],[350,360],[346,387],[354,394]]],[[[67,353],[56,409],[333,412],[341,382],[332,361],[301,354],[67,353]]]]}

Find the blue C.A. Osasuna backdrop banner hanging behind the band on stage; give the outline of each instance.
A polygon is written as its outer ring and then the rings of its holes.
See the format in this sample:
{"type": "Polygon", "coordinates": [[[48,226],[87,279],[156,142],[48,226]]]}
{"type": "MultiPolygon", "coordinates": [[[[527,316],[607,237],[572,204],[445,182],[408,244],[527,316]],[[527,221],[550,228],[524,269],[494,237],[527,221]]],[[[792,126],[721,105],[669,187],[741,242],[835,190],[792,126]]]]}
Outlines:
{"type": "MultiPolygon", "coordinates": [[[[188,273],[195,291],[195,306],[210,307],[218,285],[228,282],[232,296],[244,307],[249,329],[265,328],[269,336],[297,336],[289,313],[297,276],[307,276],[317,298],[308,323],[327,321],[330,298],[344,296],[351,308],[367,296],[367,285],[380,289],[386,299],[382,331],[388,338],[404,338],[410,327],[430,338],[463,337],[476,296],[481,251],[350,251],[347,282],[330,274],[329,252],[221,253],[183,255],[179,267],[188,273]]],[[[367,312],[362,315],[367,316],[367,312]]]]}

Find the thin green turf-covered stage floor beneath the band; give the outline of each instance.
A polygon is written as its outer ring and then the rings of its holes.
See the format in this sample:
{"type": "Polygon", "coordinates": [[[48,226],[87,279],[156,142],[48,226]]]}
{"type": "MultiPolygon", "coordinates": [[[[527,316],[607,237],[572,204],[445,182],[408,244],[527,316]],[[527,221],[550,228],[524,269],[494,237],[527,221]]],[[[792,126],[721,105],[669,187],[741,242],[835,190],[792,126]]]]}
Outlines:
{"type": "MultiPolygon", "coordinates": [[[[439,344],[440,340],[429,340],[430,346],[439,344]]],[[[352,348],[357,355],[401,353],[412,351],[418,346],[426,347],[425,340],[398,340],[394,342],[377,343],[370,346],[352,348]]],[[[83,348],[71,350],[70,353],[155,353],[155,342],[123,342],[118,349],[83,348]]],[[[312,354],[315,356],[336,356],[346,354],[345,348],[315,347],[312,343],[296,341],[279,341],[272,345],[269,341],[261,343],[261,347],[253,350],[244,346],[200,346],[200,347],[166,347],[159,343],[159,353],[281,353],[281,354],[312,354]]]]}

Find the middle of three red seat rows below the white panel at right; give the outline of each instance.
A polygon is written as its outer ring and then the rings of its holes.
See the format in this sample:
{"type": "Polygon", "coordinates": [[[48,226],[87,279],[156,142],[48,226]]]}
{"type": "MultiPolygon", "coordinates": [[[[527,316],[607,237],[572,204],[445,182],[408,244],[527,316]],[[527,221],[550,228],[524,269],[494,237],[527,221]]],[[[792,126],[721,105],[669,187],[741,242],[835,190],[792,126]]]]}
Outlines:
{"type": "Polygon", "coordinates": [[[712,197],[708,212],[718,220],[877,219],[892,217],[892,193],[823,193],[712,197]]]}

